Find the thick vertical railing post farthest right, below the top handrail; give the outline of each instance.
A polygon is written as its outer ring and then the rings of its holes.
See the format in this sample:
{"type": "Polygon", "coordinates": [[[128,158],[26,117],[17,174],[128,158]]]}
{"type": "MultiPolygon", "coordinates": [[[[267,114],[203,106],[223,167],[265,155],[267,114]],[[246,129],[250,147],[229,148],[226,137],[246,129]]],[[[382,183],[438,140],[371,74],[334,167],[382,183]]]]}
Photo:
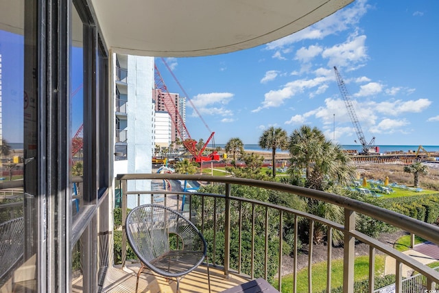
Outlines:
{"type": "Polygon", "coordinates": [[[355,237],[351,231],[355,230],[355,211],[344,209],[344,261],[343,261],[343,292],[354,292],[354,261],[355,237]]]}

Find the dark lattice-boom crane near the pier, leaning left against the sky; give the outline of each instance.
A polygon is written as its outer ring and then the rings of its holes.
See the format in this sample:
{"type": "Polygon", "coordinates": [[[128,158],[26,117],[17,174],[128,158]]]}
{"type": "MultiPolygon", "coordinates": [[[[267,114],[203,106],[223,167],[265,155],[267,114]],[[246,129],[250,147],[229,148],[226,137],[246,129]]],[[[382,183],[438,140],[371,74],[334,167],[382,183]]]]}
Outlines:
{"type": "MultiPolygon", "coordinates": [[[[355,109],[351,101],[351,95],[349,95],[348,89],[346,89],[346,85],[342,80],[342,76],[337,70],[337,67],[334,66],[335,78],[337,78],[337,84],[340,89],[340,93],[342,93],[342,97],[344,99],[344,104],[349,113],[349,117],[351,117],[352,124],[355,128],[355,132],[357,132],[357,137],[361,143],[362,151],[359,154],[370,154],[371,152],[377,152],[377,148],[374,147],[375,137],[372,137],[370,142],[368,143],[364,138],[363,130],[361,130],[361,126],[359,125],[359,121],[357,115],[355,114],[355,109]]],[[[356,141],[355,141],[356,142],[356,141]]]]}

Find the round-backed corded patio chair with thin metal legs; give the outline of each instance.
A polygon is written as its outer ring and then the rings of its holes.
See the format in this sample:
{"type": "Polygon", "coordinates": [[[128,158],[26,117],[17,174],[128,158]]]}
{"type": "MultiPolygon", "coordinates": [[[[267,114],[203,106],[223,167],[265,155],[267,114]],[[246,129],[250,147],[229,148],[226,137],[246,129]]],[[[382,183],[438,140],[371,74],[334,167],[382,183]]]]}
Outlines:
{"type": "MultiPolygon", "coordinates": [[[[126,219],[126,235],[141,261],[136,292],[139,276],[145,268],[163,277],[175,278],[178,291],[180,279],[206,258],[206,240],[198,228],[180,213],[160,204],[144,204],[132,209],[126,219]]],[[[207,274],[210,292],[209,262],[207,274]]]]}

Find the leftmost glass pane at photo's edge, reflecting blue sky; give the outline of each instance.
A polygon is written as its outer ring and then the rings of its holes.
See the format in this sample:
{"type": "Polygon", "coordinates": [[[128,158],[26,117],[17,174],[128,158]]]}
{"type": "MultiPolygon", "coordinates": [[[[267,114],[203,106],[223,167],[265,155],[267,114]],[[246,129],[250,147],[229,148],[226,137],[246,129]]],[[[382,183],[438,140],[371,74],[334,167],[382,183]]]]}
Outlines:
{"type": "Polygon", "coordinates": [[[35,243],[24,242],[25,231],[26,239],[34,239],[32,225],[25,228],[25,222],[36,222],[36,214],[29,209],[25,215],[23,208],[23,124],[25,115],[33,123],[35,106],[24,89],[23,14],[24,1],[0,2],[0,292],[32,292],[36,285],[35,243]]]}

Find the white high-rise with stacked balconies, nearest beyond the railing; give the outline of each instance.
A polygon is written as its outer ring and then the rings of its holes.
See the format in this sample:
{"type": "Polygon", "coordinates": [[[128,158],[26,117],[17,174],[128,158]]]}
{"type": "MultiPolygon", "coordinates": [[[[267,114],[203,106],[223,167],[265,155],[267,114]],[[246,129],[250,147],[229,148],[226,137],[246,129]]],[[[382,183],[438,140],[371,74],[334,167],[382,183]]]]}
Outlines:
{"type": "MultiPolygon", "coordinates": [[[[154,58],[113,54],[115,78],[114,174],[151,173],[154,154],[154,58]]],[[[150,181],[137,180],[132,188],[150,188],[150,181]],[[143,187],[144,186],[144,187],[143,187]]],[[[144,196],[142,202],[149,202],[144,196]]],[[[137,201],[128,199],[128,207],[137,201]]]]}

